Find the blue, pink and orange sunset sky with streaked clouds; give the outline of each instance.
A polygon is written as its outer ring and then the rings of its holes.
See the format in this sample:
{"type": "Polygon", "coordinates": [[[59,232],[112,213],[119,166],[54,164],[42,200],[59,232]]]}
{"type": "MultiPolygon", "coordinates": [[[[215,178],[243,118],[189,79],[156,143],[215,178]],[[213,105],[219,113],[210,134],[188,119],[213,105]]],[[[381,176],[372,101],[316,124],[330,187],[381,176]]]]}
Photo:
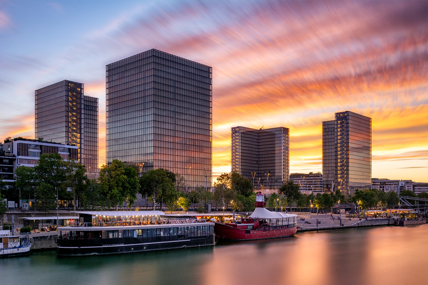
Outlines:
{"type": "Polygon", "coordinates": [[[290,173],[322,171],[322,121],[372,118],[372,177],[428,182],[428,1],[0,1],[0,138],[34,138],[34,91],[99,98],[105,66],[157,48],[213,68],[213,179],[231,127],[290,129],[290,173]]]}

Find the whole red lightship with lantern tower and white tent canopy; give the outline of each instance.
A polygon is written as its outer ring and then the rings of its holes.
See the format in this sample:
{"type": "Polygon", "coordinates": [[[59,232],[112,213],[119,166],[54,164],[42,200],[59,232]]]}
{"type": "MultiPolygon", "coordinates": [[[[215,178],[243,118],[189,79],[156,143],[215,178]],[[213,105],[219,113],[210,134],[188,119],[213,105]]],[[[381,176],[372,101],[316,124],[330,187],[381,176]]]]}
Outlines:
{"type": "Polygon", "coordinates": [[[244,241],[262,238],[281,238],[297,232],[297,215],[270,212],[265,208],[265,195],[256,195],[256,209],[241,223],[215,223],[214,232],[220,240],[244,241]]]}

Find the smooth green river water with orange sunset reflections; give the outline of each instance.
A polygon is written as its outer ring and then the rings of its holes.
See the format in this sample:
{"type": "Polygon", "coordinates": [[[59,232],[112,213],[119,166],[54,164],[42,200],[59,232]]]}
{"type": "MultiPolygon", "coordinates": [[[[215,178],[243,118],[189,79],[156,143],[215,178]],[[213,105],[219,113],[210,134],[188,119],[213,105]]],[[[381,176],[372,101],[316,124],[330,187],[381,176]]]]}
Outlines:
{"type": "Polygon", "coordinates": [[[428,224],[303,232],[214,247],[0,259],[0,284],[428,284],[428,224]]]}

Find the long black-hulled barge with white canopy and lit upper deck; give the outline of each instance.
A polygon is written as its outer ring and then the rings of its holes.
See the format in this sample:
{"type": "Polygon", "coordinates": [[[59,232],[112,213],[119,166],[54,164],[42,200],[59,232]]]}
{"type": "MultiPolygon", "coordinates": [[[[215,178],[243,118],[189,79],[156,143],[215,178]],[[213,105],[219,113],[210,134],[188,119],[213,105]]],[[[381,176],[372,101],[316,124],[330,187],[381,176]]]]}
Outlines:
{"type": "Polygon", "coordinates": [[[214,245],[214,223],[165,219],[161,211],[72,212],[79,222],[58,228],[56,253],[93,255],[214,245]]]}

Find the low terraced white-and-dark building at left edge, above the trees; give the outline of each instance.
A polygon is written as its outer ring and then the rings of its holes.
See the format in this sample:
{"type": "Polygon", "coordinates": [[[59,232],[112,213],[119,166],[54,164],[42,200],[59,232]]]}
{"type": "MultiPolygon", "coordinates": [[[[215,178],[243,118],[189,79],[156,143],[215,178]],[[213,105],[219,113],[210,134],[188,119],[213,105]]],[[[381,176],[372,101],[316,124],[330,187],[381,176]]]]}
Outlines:
{"type": "Polygon", "coordinates": [[[15,182],[14,173],[17,167],[34,167],[39,163],[41,154],[59,153],[62,159],[78,162],[78,147],[38,141],[30,138],[15,138],[5,140],[3,150],[0,150],[0,176],[3,182],[15,182]]]}

